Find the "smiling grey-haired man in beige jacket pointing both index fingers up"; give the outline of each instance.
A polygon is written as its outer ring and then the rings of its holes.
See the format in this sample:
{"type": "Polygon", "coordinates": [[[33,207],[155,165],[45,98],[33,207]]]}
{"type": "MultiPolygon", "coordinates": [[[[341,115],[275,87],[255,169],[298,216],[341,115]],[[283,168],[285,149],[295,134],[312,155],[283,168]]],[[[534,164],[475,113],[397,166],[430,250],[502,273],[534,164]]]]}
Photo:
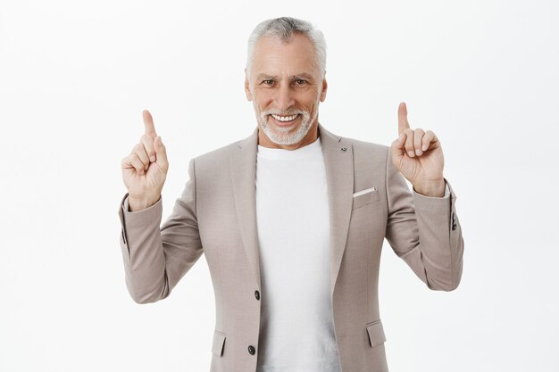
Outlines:
{"type": "Polygon", "coordinates": [[[437,136],[410,128],[405,103],[390,147],[330,133],[318,120],[325,61],[322,34],[306,21],[254,29],[245,91],[257,127],[190,161],[162,227],[169,162],[149,112],[122,160],[129,293],[162,300],[204,252],[214,372],[387,371],[377,290],[385,237],[430,289],[460,282],[463,238],[437,136]]]}

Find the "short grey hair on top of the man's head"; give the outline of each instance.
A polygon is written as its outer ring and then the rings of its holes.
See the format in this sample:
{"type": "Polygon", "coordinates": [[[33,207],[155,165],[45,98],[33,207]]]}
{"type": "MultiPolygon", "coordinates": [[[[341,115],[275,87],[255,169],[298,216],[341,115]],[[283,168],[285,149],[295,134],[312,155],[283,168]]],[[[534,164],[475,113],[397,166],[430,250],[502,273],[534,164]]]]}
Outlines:
{"type": "Polygon", "coordinates": [[[326,70],[326,40],[321,30],[315,29],[308,21],[298,20],[291,17],[280,17],[258,23],[248,37],[246,56],[246,72],[250,74],[250,68],[254,60],[254,45],[260,37],[280,37],[281,41],[287,43],[294,34],[302,34],[309,37],[314,44],[317,61],[321,69],[321,77],[326,70]]]}

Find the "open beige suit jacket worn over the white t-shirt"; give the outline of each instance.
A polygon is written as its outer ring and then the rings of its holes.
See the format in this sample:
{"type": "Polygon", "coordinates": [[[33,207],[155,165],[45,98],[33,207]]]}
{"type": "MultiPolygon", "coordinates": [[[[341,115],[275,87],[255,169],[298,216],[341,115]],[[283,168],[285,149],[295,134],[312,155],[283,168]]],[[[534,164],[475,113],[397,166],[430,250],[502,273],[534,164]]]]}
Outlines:
{"type": "MultiPolygon", "coordinates": [[[[460,282],[463,237],[456,196],[417,194],[389,147],[336,136],[319,124],[330,203],[330,295],[343,372],[388,371],[379,313],[380,251],[386,237],[430,289],[460,282]],[[356,192],[371,189],[364,194],[356,192]]],[[[215,294],[211,372],[255,371],[261,291],[255,215],[257,128],[189,163],[189,179],[161,225],[161,199],[119,207],[125,281],[135,302],[164,299],[205,253],[215,294]]]]}

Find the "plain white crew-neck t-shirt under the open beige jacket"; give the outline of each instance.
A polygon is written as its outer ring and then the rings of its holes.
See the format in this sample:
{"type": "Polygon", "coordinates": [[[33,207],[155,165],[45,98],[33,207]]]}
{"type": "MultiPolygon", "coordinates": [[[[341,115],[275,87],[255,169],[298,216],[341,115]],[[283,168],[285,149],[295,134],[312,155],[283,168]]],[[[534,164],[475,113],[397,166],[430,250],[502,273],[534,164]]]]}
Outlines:
{"type": "Polygon", "coordinates": [[[330,299],[330,211],[318,138],[258,145],[262,313],[257,372],[339,372],[330,299]]]}

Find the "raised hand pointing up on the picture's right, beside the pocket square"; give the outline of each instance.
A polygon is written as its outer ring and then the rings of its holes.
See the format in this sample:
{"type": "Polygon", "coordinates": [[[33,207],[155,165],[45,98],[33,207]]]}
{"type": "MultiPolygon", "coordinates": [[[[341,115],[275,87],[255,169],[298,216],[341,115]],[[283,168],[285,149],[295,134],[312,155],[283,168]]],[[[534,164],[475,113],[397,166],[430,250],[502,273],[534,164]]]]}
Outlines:
{"type": "Polygon", "coordinates": [[[412,129],[405,103],[398,106],[398,134],[391,145],[392,162],[412,183],[416,193],[441,197],[445,194],[443,149],[435,133],[412,129]]]}

